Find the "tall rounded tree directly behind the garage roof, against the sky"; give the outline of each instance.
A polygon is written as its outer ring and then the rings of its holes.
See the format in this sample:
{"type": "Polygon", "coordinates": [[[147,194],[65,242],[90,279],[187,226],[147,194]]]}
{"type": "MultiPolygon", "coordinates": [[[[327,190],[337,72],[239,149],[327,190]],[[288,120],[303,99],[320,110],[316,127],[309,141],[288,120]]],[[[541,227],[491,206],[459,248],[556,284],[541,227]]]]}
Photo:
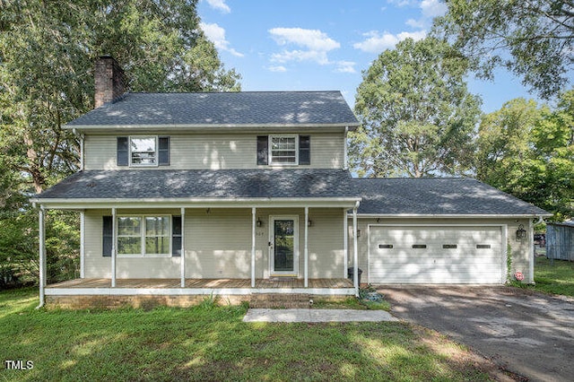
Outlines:
{"type": "Polygon", "coordinates": [[[480,100],[466,89],[467,61],[439,39],[405,39],[363,74],[350,135],[360,176],[459,175],[471,168],[480,100]]]}

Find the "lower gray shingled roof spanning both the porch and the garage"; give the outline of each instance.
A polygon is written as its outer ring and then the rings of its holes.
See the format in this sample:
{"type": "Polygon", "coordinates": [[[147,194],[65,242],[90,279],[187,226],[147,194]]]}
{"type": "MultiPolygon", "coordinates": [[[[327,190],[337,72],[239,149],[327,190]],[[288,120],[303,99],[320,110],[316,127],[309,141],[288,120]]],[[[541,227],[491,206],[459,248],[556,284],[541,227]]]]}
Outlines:
{"type": "Polygon", "coordinates": [[[549,215],[471,178],[351,178],[344,169],[89,170],[37,195],[47,199],[359,198],[381,215],[549,215]]]}

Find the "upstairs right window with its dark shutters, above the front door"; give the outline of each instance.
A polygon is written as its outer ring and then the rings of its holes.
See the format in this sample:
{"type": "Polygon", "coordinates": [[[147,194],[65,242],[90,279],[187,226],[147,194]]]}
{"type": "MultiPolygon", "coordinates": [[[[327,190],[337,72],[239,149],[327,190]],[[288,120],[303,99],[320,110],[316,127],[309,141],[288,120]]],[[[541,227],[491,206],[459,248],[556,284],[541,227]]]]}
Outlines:
{"type": "Polygon", "coordinates": [[[257,164],[294,166],[311,164],[309,135],[257,136],[257,164]]]}

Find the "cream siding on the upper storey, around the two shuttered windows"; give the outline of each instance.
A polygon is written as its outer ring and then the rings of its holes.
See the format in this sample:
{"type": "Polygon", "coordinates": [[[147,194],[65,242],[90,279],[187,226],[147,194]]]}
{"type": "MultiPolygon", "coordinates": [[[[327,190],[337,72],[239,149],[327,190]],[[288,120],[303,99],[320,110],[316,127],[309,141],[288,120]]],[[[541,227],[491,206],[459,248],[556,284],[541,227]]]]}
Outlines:
{"type": "MultiPolygon", "coordinates": [[[[343,133],[304,133],[304,135],[311,136],[311,164],[305,166],[306,169],[342,169],[344,167],[343,133]]],[[[146,167],[146,169],[268,167],[257,166],[257,134],[169,136],[170,166],[146,167]]],[[[116,158],[117,135],[86,135],[85,169],[133,169],[128,166],[117,166],[116,158]]]]}

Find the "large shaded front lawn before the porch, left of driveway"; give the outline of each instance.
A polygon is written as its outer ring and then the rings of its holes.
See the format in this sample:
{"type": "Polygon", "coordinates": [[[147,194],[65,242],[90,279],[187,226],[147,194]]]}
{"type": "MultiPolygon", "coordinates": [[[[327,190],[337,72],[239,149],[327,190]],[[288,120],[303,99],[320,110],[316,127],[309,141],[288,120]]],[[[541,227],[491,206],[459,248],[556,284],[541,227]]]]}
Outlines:
{"type": "Polygon", "coordinates": [[[491,371],[446,337],[404,323],[248,324],[247,307],[209,302],[37,310],[36,296],[0,292],[0,381],[463,381],[491,371]],[[5,369],[4,360],[31,360],[33,369],[5,369]]]}

